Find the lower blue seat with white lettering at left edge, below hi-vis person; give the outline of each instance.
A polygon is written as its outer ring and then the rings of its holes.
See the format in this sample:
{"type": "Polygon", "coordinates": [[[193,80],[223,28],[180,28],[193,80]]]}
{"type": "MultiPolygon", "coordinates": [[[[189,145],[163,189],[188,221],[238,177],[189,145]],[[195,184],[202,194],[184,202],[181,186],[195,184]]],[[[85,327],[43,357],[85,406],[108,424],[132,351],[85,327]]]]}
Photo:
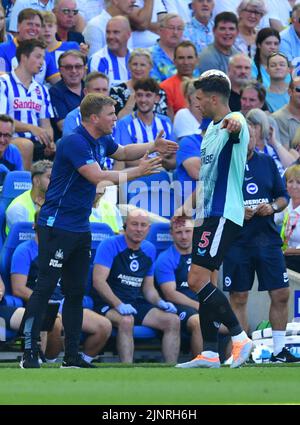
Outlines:
{"type": "MultiPolygon", "coordinates": [[[[11,226],[0,254],[0,275],[7,295],[12,295],[10,282],[11,258],[16,247],[24,241],[34,238],[34,230],[30,222],[19,222],[11,226]]],[[[22,303],[23,304],[23,303],[22,303]]]]}

